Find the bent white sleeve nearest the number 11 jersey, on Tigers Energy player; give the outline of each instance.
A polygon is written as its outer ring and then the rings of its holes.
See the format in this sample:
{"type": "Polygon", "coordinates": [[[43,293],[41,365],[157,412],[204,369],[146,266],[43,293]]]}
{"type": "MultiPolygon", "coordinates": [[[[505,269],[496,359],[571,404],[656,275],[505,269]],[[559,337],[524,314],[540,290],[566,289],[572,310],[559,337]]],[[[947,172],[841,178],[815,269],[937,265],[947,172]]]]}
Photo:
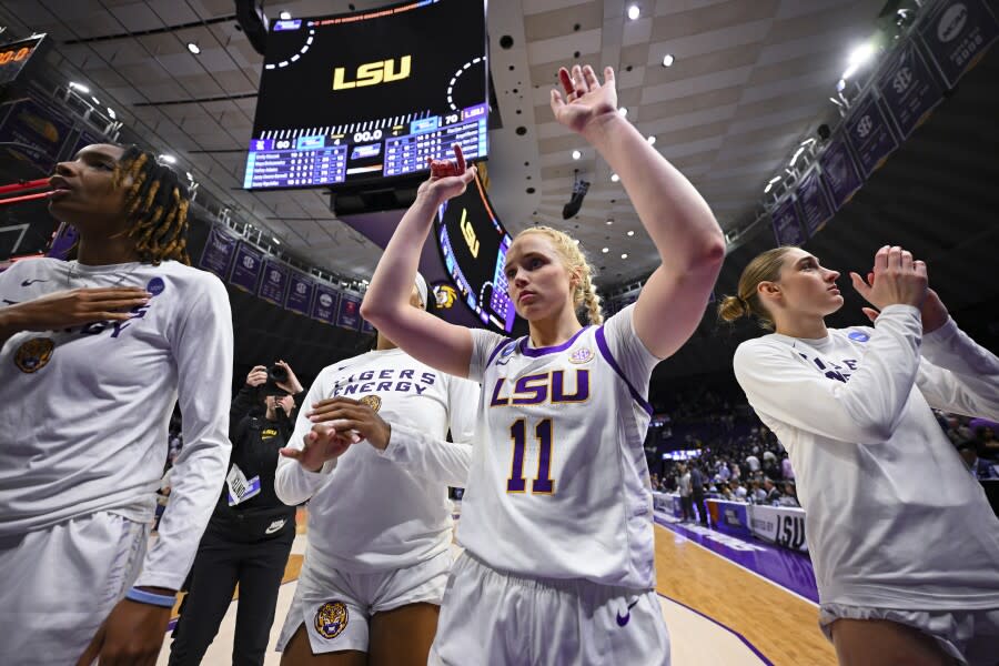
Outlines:
{"type": "Polygon", "coordinates": [[[418,427],[392,424],[389,446],[379,455],[426,480],[465,487],[472,464],[478,384],[454,376],[447,380],[447,413],[454,442],[435,440],[418,427]]]}

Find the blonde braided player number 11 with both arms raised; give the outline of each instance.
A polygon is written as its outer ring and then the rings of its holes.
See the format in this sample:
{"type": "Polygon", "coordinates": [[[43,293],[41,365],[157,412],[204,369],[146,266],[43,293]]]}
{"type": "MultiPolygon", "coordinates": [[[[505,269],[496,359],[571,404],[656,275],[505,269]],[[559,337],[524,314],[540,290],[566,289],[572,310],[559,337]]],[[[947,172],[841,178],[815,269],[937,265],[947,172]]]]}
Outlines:
{"type": "Polygon", "coordinates": [[[438,204],[473,172],[437,168],[372,279],[362,312],[428,365],[481,381],[460,541],[432,664],[667,664],[656,598],[643,441],[653,367],[690,336],[725,255],[694,186],[617,112],[614,72],[562,69],[563,125],[620,175],[662,265],[637,303],[602,323],[591,268],[547,228],[517,235],[509,296],[529,335],[509,340],[406,307],[438,204]],[[457,172],[457,173],[456,173],[457,172]],[[585,305],[594,324],[584,327],[585,305]]]}

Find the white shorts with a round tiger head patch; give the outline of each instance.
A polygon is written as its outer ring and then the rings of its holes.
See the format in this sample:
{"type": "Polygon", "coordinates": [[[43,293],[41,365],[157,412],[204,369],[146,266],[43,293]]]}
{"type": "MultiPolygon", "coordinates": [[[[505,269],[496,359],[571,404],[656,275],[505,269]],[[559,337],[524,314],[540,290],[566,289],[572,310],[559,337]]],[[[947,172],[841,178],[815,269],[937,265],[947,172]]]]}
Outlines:
{"type": "Polygon", "coordinates": [[[313,654],[366,653],[371,616],[410,604],[440,606],[450,569],[450,551],[411,567],[376,574],[321,572],[310,566],[306,557],[276,649],[284,652],[304,624],[313,654]]]}

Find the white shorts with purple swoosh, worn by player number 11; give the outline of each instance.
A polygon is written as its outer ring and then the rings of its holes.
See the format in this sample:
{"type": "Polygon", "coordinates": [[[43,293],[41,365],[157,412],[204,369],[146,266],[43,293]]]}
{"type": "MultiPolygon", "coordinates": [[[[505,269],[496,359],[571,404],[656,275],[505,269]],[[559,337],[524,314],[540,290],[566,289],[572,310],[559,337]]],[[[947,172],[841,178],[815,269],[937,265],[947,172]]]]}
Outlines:
{"type": "Polygon", "coordinates": [[[452,567],[428,664],[669,664],[656,593],[500,573],[466,551],[452,567]]]}

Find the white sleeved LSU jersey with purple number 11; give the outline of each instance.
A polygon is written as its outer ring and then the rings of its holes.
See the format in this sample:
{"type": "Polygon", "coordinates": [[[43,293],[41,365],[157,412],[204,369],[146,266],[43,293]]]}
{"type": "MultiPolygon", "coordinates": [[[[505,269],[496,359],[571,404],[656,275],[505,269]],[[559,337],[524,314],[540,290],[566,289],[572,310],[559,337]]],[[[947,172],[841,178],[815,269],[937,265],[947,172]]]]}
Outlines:
{"type": "Polygon", "coordinates": [[[458,541],[491,567],[655,586],[643,443],[659,359],[633,307],[553,347],[472,331],[482,401],[458,541]]]}

